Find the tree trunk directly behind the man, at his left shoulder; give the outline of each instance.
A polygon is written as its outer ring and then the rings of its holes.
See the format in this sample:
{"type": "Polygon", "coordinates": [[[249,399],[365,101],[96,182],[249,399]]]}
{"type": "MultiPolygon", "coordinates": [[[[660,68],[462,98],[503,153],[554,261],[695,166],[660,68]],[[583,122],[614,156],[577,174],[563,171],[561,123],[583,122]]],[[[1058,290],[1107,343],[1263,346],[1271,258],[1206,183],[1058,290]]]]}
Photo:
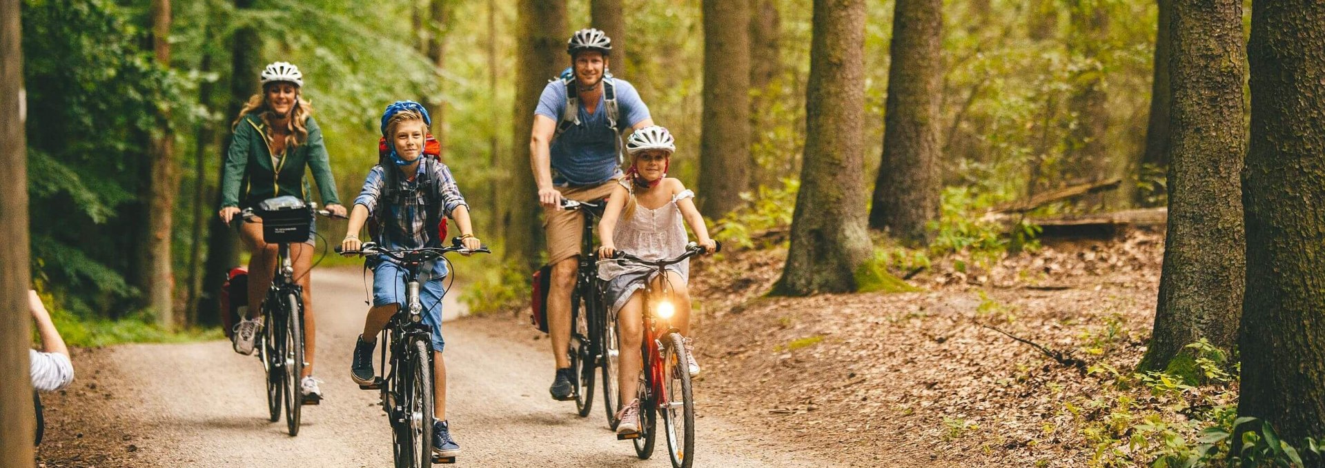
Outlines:
{"type": "Polygon", "coordinates": [[[566,67],[566,0],[519,0],[515,11],[519,37],[519,62],[515,71],[515,124],[511,140],[509,184],[510,206],[506,218],[506,259],[533,271],[539,266],[543,225],[538,219],[538,189],[529,164],[529,136],[533,134],[534,107],[547,86],[547,79],[566,67]]]}

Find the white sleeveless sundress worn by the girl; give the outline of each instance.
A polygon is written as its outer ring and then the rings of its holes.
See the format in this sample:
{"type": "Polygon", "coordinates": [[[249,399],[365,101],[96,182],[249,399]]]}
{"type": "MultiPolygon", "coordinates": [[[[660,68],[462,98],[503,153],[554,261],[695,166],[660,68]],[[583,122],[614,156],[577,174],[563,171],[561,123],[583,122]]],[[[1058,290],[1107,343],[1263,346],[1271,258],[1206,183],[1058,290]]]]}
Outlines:
{"type": "MultiPolygon", "coordinates": [[[[621,185],[625,182],[623,181],[621,185]]],[[[694,197],[694,192],[682,190],[657,209],[651,210],[636,205],[635,214],[629,219],[620,219],[616,223],[616,230],[612,231],[612,243],[616,245],[616,250],[645,260],[660,260],[684,254],[689,238],[685,234],[685,219],[681,217],[681,208],[677,206],[677,202],[690,197],[694,197]]],[[[681,280],[689,282],[689,259],[666,268],[681,275],[681,280]]],[[[624,307],[631,295],[636,290],[644,288],[648,279],[653,276],[657,276],[657,271],[645,266],[617,264],[611,259],[598,262],[598,278],[607,282],[604,299],[611,305],[610,313],[616,313],[624,307]]]]}

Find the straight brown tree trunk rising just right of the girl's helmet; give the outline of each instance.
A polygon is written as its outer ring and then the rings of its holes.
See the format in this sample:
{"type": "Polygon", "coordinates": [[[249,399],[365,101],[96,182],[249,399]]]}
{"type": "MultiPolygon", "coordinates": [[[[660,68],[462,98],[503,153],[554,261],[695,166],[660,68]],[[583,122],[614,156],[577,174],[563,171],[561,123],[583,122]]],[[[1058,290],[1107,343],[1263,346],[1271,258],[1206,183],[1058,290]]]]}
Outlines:
{"type": "Polygon", "coordinates": [[[750,180],[750,3],[704,1],[700,209],[721,218],[750,180]]]}

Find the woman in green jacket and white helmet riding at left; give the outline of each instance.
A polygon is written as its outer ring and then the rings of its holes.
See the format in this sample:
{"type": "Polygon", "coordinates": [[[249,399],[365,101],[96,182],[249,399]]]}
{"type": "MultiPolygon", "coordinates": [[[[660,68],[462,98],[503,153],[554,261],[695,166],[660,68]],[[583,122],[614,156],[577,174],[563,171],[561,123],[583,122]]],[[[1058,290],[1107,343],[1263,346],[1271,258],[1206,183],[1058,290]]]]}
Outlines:
{"type": "MultiPolygon", "coordinates": [[[[225,155],[225,171],[221,177],[220,217],[231,222],[241,208],[250,208],[266,198],[294,196],[307,200],[309,182],[303,177],[305,168],[313,171],[318,190],[326,209],[335,215],[344,215],[344,206],[337,197],[335,180],[327,161],[327,149],[322,143],[322,130],[313,119],[313,107],[301,99],[303,74],[294,65],[274,62],[262,70],[262,91],[254,94],[244,104],[240,115],[231,126],[229,151],[225,155]]],[[[272,286],[272,274],[277,256],[277,246],[262,241],[262,222],[252,218],[240,225],[240,238],[248,246],[249,258],[248,297],[250,304],[261,303],[265,291],[272,286]]],[[[303,378],[299,394],[307,403],[322,401],[318,379],[313,378],[313,356],[317,342],[317,327],[313,313],[313,288],[309,270],[313,266],[313,234],[301,243],[290,245],[290,258],[294,262],[295,282],[303,288],[305,357],[303,378]]],[[[262,311],[249,307],[249,317],[236,325],[235,352],[253,353],[253,341],[262,323],[262,311]]]]}

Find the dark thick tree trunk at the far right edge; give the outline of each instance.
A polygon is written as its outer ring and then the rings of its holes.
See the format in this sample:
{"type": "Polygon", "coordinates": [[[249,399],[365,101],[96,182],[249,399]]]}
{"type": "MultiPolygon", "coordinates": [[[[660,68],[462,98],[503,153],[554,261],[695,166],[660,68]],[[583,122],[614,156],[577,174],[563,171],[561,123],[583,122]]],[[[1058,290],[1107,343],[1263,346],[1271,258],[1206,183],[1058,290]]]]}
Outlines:
{"type": "Polygon", "coordinates": [[[1302,438],[1325,434],[1325,4],[1253,3],[1247,49],[1252,99],[1238,414],[1268,420],[1301,447],[1302,438]]]}

